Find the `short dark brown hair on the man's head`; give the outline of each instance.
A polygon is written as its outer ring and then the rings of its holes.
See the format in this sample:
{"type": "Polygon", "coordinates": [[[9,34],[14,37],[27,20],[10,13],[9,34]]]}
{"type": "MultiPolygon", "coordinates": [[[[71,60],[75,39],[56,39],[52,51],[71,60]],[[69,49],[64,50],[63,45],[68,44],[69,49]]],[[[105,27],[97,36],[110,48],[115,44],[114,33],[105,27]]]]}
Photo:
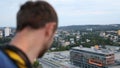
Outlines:
{"type": "Polygon", "coordinates": [[[58,17],[54,8],[45,1],[28,1],[21,6],[17,13],[16,31],[21,31],[28,26],[32,29],[42,28],[49,22],[56,22],[56,30],[58,17]]]}

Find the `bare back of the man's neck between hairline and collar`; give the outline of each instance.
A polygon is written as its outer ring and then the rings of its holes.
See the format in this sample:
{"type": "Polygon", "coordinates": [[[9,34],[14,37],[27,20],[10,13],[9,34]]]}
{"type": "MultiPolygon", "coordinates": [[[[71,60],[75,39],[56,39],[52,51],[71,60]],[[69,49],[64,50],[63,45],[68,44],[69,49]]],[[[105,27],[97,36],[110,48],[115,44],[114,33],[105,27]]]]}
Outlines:
{"type": "MultiPolygon", "coordinates": [[[[39,45],[39,47],[37,46],[38,42],[35,36],[36,35],[32,35],[29,33],[18,33],[10,42],[11,45],[16,46],[17,48],[22,50],[27,55],[32,64],[34,63],[34,60],[38,57],[40,50],[42,50],[41,45],[39,45]]],[[[41,41],[39,40],[39,43],[40,42],[41,41]]]]}

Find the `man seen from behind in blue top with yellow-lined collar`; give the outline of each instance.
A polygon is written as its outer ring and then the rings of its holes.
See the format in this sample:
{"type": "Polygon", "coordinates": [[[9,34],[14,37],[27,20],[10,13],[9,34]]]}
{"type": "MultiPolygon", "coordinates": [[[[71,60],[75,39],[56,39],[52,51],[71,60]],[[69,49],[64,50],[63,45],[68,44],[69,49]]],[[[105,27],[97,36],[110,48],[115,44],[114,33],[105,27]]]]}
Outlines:
{"type": "Polygon", "coordinates": [[[32,68],[51,46],[58,18],[45,1],[28,1],[17,13],[16,35],[0,47],[0,68],[32,68]]]}

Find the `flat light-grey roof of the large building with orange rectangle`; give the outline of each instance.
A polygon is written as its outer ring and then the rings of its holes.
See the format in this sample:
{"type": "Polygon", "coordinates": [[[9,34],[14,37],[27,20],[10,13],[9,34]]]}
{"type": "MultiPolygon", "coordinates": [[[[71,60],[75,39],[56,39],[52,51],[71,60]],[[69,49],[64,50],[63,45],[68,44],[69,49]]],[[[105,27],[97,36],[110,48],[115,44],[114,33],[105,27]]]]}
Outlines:
{"type": "Polygon", "coordinates": [[[73,47],[72,49],[75,50],[82,50],[82,51],[87,51],[87,52],[91,52],[91,53],[98,53],[98,54],[104,54],[104,55],[108,55],[108,54],[114,54],[114,52],[108,50],[108,49],[95,49],[95,48],[85,48],[85,47],[73,47]]]}

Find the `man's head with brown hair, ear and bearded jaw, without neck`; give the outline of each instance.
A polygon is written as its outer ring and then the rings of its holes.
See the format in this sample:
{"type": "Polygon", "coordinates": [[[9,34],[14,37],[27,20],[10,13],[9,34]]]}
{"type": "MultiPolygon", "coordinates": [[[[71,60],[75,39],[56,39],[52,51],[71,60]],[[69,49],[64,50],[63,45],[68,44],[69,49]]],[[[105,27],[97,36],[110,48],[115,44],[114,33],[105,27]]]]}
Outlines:
{"type": "MultiPolygon", "coordinates": [[[[43,52],[40,53],[40,57],[50,47],[57,26],[57,14],[53,7],[45,1],[28,1],[21,6],[17,13],[16,32],[20,33],[26,29],[28,31],[34,31],[37,36],[35,37],[43,41],[41,43],[43,52]]],[[[33,42],[36,41],[33,40],[33,42]]]]}

